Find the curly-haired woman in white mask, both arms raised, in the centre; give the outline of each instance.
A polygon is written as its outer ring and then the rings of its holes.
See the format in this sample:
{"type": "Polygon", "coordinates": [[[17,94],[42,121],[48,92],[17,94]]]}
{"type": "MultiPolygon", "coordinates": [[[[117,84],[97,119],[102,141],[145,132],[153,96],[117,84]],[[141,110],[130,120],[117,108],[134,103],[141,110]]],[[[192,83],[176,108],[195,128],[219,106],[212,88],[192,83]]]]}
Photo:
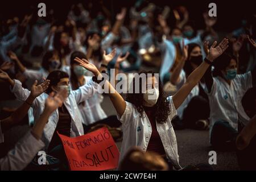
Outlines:
{"type": "MultiPolygon", "coordinates": [[[[108,89],[108,95],[117,111],[118,119],[123,124],[123,142],[119,162],[131,147],[138,146],[144,152],[151,151],[164,156],[170,169],[181,168],[171,120],[177,114],[176,109],[200,81],[209,65],[228,47],[228,39],[222,40],[217,47],[216,44],[217,42],[213,43],[205,61],[189,75],[185,84],[174,96],[164,96],[158,75],[152,72],[142,72],[133,78],[127,101],[123,100],[108,81],[105,82],[104,89],[108,89]],[[138,78],[143,77],[142,74],[146,75],[146,80],[138,78]],[[143,88],[147,89],[143,90],[143,88]]],[[[98,80],[102,80],[101,73],[89,61],[78,57],[75,60],[94,73],[98,80]]]]}

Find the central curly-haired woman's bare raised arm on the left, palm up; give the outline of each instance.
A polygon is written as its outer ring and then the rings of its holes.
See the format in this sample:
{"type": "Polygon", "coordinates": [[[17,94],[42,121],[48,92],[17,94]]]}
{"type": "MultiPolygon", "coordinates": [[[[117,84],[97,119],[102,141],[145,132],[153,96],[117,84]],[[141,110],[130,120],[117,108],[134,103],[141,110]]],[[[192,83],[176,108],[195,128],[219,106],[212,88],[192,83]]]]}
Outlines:
{"type": "MultiPolygon", "coordinates": [[[[90,72],[92,72],[97,78],[102,78],[103,76],[101,73],[98,71],[95,65],[92,63],[89,63],[89,61],[85,59],[79,59],[76,57],[75,59],[77,63],[79,63],[82,67],[88,69],[90,72]]],[[[108,80],[106,80],[106,85],[108,86],[108,95],[110,97],[110,100],[112,101],[115,110],[119,115],[123,115],[123,112],[125,111],[126,108],[126,102],[123,100],[122,96],[113,88],[113,86],[110,84],[108,80]]]]}

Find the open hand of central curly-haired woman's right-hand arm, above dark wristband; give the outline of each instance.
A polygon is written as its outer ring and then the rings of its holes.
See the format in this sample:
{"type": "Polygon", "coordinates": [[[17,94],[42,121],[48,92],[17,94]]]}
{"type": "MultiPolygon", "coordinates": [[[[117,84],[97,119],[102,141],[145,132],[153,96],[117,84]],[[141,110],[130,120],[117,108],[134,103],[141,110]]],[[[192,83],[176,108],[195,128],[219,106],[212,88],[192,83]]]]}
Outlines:
{"type": "Polygon", "coordinates": [[[214,59],[216,59],[218,56],[222,55],[222,53],[226,50],[226,48],[228,48],[228,43],[229,43],[229,40],[228,39],[223,39],[221,41],[220,44],[218,44],[218,46],[216,47],[217,45],[217,41],[214,41],[212,46],[210,47],[209,49],[209,54],[207,56],[207,59],[209,61],[213,61],[214,59]]]}

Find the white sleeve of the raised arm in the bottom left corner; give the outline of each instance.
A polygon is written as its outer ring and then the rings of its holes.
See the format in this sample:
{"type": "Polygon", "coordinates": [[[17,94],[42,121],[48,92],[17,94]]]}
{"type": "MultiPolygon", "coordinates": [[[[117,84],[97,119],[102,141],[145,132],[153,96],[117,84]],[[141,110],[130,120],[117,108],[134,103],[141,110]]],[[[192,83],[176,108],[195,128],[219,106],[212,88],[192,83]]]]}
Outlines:
{"type": "Polygon", "coordinates": [[[6,156],[0,159],[0,170],[22,170],[44,147],[42,140],[37,140],[29,131],[6,156]]]}

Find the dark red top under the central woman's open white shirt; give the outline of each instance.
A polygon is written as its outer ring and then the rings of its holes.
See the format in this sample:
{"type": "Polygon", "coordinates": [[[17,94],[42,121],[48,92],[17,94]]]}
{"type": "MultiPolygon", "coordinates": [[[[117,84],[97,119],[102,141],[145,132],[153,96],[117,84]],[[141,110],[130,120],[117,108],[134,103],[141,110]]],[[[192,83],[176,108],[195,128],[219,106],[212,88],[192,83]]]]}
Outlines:
{"type": "Polygon", "coordinates": [[[146,107],[144,106],[144,111],[147,114],[148,119],[150,120],[150,124],[152,127],[152,134],[150,137],[150,141],[147,146],[147,151],[155,152],[159,155],[166,155],[166,151],[164,151],[163,143],[156,129],[156,121],[155,121],[155,107],[146,107]]]}

